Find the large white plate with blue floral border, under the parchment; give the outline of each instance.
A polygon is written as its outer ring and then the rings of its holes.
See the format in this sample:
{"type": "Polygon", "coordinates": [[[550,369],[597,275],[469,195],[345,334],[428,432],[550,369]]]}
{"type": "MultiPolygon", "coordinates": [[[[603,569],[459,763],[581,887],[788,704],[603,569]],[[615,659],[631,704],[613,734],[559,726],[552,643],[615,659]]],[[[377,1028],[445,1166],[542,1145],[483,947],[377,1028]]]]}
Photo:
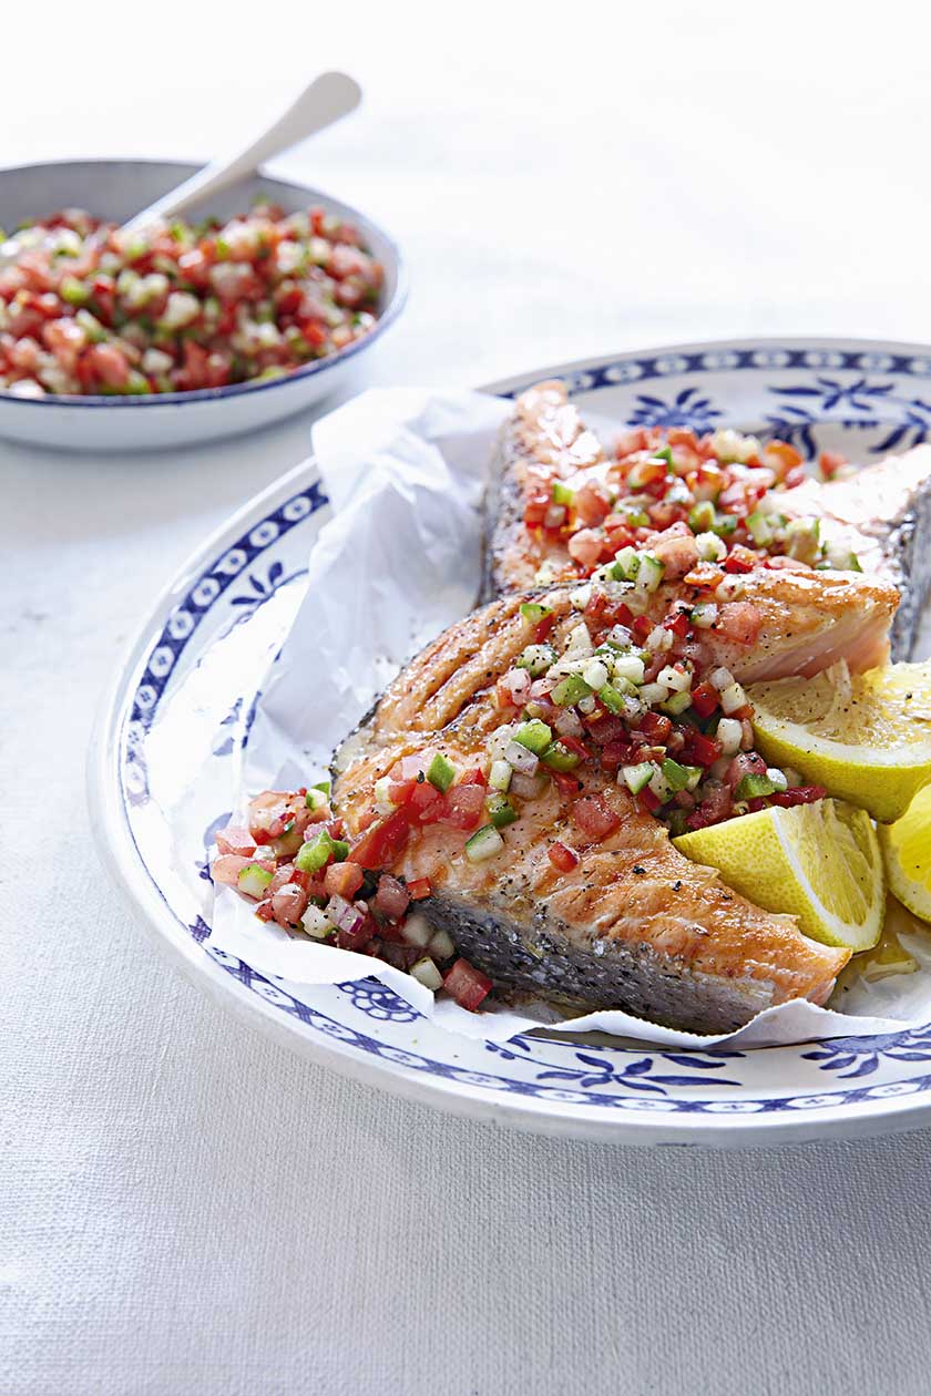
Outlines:
{"type": "MultiPolygon", "coordinates": [[[[631,423],[733,424],[871,461],[931,429],[931,349],[840,341],[683,345],[549,367],[575,401],[631,423]]],[[[91,752],[100,847],[133,914],[188,977],[311,1060],[459,1114],[543,1134],[717,1148],[871,1134],[931,1120],[931,1023],[758,1051],[657,1051],[433,1027],[374,980],[296,1002],[207,948],[207,849],[225,822],[257,678],[301,597],[329,508],[311,463],[247,504],[165,592],[91,752]],[[197,776],[197,779],[195,779],[197,776]]]]}

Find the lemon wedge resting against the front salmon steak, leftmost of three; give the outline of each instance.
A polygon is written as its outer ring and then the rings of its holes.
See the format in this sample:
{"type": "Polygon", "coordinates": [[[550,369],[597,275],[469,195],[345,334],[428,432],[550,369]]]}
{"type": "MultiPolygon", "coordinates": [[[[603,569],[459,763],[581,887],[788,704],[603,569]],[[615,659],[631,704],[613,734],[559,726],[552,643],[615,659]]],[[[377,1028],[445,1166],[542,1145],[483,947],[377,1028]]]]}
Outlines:
{"type": "Polygon", "coordinates": [[[882,931],[885,875],[870,815],[840,800],[770,807],[673,839],[768,912],[797,916],[825,945],[871,949],[882,931]]]}

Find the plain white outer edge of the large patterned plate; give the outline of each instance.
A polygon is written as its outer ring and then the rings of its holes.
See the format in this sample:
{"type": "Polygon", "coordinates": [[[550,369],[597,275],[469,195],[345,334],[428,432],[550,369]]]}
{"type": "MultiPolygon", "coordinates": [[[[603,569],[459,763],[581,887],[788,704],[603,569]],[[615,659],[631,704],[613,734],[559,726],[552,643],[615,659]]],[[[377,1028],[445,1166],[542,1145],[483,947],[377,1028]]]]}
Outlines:
{"type": "MultiPolygon", "coordinates": [[[[537,370],[512,374],[490,384],[482,384],[476,391],[496,395],[511,394],[528,381],[585,373],[588,369],[624,357],[713,352],[734,345],[786,343],[808,349],[844,346],[847,352],[856,349],[856,352],[931,355],[931,346],[911,342],[796,336],[790,334],[779,336],[745,335],[656,348],[631,348],[614,355],[593,355],[571,363],[549,364],[537,370]]],[[[148,938],[161,948],[184,979],[205,993],[214,1004],[229,1009],[240,1022],[261,1030],[281,1046],[299,1051],[315,1065],[329,1067],[367,1086],[381,1087],[402,1099],[429,1104],[459,1117],[477,1118],[550,1136],[641,1146],[676,1143],[705,1148],[772,1148],[773,1145],[817,1142],[837,1136],[853,1138],[899,1132],[927,1125],[931,1120],[931,1096],[925,1101],[920,1097],[892,1096],[871,1099],[868,1106],[863,1101],[840,1103],[821,1110],[817,1117],[805,1117],[801,1113],[793,1117],[784,1111],[770,1114],[690,1113],[685,1118],[674,1111],[670,1111],[669,1115],[648,1111],[641,1115],[636,1113],[606,1114],[599,1107],[583,1104],[575,1106],[574,1111],[567,1114],[560,1101],[505,1096],[483,1086],[426,1076],[384,1057],[362,1057],[350,1046],[335,1039],[314,1040],[296,1027],[289,1015],[282,1015],[261,995],[251,993],[234,976],[226,973],[221,965],[211,960],[195,941],[180,933],[176,917],[167,909],[123,818],[119,799],[119,757],[126,697],[133,692],[133,681],[138,674],[141,660],[151,648],[152,637],[161,634],[172,607],[190,589],[193,579],[204,571],[205,563],[222,551],[223,543],[230,536],[239,536],[244,532],[250,519],[260,515],[274,501],[286,500],[289,493],[293,493],[293,486],[306,483],[308,476],[313,479],[314,470],[315,458],[311,454],[246,500],[188,554],[181,567],[158,592],[145,617],[135,628],[133,639],[124,646],[121,660],[105,690],[91,733],[87,758],[87,797],[98,856],[121,893],[124,905],[135,913],[134,920],[141,920],[148,938]],[[590,1110],[590,1114],[586,1114],[586,1110],[590,1110]]]]}

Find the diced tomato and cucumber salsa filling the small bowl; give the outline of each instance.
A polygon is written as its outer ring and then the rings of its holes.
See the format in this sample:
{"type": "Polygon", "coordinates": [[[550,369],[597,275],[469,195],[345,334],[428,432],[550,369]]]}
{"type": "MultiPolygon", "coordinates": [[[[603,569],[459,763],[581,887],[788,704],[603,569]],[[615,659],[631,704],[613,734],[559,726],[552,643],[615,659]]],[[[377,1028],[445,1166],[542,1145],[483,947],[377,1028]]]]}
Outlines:
{"type": "Polygon", "coordinates": [[[274,378],[360,339],[378,313],[380,262],[322,208],[262,201],[226,223],[133,235],[64,209],[14,239],[0,271],[0,389],[17,396],[274,378]]]}

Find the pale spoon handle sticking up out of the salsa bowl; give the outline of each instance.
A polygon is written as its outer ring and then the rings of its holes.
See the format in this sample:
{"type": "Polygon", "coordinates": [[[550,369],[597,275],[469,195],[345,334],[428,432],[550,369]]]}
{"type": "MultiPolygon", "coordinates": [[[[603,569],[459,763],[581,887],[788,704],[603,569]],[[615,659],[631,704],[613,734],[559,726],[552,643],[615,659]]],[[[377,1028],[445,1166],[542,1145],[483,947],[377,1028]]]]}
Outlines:
{"type": "Polygon", "coordinates": [[[322,131],[353,112],[362,99],[359,84],[345,73],[321,73],[304,88],[288,110],[257,140],[232,159],[214,161],[197,174],[149,204],[123,225],[124,233],[138,233],[156,221],[183,214],[208,195],[222,194],[230,184],[254,174],[264,161],[281,155],[315,131],[322,131]]]}

